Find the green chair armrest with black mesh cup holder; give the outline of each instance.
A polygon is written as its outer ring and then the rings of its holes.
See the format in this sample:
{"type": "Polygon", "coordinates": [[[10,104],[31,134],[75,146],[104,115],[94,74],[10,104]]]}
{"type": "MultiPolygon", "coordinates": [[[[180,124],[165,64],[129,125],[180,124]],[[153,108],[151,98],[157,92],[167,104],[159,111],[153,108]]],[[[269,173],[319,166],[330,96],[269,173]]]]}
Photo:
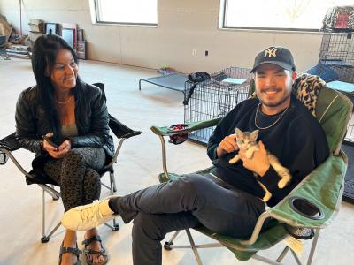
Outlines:
{"type": "Polygon", "coordinates": [[[327,226],[338,211],[347,166],[343,153],[330,155],[268,213],[295,227],[327,226]]]}

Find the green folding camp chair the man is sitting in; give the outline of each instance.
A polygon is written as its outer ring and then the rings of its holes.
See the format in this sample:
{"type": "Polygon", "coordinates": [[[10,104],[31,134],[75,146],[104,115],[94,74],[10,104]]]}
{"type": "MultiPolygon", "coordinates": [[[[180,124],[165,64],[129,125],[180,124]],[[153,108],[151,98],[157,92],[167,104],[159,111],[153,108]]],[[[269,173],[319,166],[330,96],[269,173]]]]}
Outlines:
{"type": "MultiPolygon", "coordinates": [[[[190,246],[173,246],[173,239],[180,232],[176,231],[172,239],[165,242],[165,249],[170,250],[173,247],[192,248],[198,264],[202,264],[197,252],[199,247],[226,246],[240,261],[254,258],[269,264],[281,264],[284,256],[290,250],[297,264],[301,264],[296,252],[289,246],[284,248],[275,261],[256,254],[258,250],[270,248],[291,235],[297,239],[312,239],[312,246],[307,259],[307,264],[311,264],[319,239],[319,230],[325,228],[333,221],[342,200],[343,179],[348,160],[341,150],[341,143],[347,130],[352,108],[352,103],[345,95],[328,87],[323,87],[320,90],[316,105],[316,118],[326,133],[331,155],[317,169],[306,176],[284,200],[273,208],[267,208],[266,212],[259,216],[258,223],[250,239],[235,239],[216,234],[205,227],[198,227],[196,231],[204,233],[208,237],[219,241],[219,243],[196,245],[190,231],[187,229],[190,246]],[[273,218],[271,221],[273,225],[266,231],[261,231],[262,225],[267,218],[273,218]]],[[[220,119],[214,118],[212,120],[189,123],[186,129],[179,132],[175,132],[168,126],[151,127],[152,132],[158,135],[162,144],[164,172],[158,176],[160,182],[180,177],[178,174],[170,173],[167,170],[164,137],[177,134],[185,135],[185,133],[214,126],[219,123],[220,119]]],[[[201,170],[197,173],[206,173],[211,169],[201,170]]]]}

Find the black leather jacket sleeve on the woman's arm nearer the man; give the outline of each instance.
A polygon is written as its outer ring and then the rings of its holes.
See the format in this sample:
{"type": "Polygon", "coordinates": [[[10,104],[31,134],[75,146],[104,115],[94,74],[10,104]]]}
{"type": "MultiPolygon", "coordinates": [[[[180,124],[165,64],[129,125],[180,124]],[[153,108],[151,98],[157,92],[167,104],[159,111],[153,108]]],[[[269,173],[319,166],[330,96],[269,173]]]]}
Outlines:
{"type": "MultiPolygon", "coordinates": [[[[109,117],[104,95],[98,88],[90,91],[90,93],[95,95],[87,97],[92,98],[89,102],[91,112],[89,132],[84,135],[70,137],[72,148],[101,148],[110,137],[109,117]]],[[[77,117],[77,119],[80,119],[80,117],[77,117]]]]}

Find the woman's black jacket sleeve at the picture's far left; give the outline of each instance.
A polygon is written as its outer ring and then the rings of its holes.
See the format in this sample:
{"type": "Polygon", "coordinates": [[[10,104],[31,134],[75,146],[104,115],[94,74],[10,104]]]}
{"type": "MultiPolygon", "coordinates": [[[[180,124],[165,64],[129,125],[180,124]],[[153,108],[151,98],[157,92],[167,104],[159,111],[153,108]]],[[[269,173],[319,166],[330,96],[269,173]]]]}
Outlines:
{"type": "Polygon", "coordinates": [[[15,121],[16,138],[19,145],[36,154],[42,153],[42,137],[36,133],[35,106],[28,95],[28,89],[19,95],[15,121]]]}

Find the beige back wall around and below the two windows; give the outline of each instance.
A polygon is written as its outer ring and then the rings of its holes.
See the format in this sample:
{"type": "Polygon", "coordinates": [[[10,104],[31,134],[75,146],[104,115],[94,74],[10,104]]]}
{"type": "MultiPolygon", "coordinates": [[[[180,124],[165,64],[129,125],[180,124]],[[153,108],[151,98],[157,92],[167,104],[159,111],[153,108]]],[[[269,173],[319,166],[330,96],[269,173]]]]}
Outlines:
{"type": "MultiPolygon", "coordinates": [[[[28,17],[77,23],[85,30],[93,60],[149,68],[169,65],[180,72],[215,72],[231,65],[250,67],[260,49],[283,45],[294,52],[297,69],[304,71],[319,57],[321,34],[219,30],[219,0],[159,0],[158,27],[93,25],[89,0],[24,2],[25,30],[28,17]],[[196,56],[192,49],[196,49],[196,56]]],[[[0,13],[19,30],[19,1],[0,0],[0,13]]]]}

